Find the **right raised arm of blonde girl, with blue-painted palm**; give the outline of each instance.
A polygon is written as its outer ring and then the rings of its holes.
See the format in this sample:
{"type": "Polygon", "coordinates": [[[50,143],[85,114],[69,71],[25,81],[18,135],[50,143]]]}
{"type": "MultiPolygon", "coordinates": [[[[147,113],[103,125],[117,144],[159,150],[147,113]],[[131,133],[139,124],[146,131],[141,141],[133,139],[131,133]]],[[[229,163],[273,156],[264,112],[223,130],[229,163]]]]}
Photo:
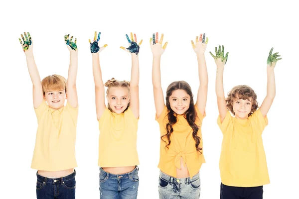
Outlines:
{"type": "Polygon", "coordinates": [[[132,57],[132,68],[131,68],[131,81],[130,81],[130,107],[136,118],[139,118],[139,49],[142,43],[142,40],[137,44],[136,34],[131,32],[131,40],[126,34],[126,37],[129,41],[130,46],[125,48],[121,46],[120,48],[126,50],[131,54],[132,57]]]}

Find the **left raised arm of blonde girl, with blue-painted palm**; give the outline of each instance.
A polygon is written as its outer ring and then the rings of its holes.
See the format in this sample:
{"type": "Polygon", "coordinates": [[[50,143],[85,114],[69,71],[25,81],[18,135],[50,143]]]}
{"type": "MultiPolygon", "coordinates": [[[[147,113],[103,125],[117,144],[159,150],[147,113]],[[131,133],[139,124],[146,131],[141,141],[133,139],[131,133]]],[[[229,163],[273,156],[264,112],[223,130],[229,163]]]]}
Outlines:
{"type": "Polygon", "coordinates": [[[95,32],[95,37],[93,42],[90,41],[90,51],[92,53],[92,69],[93,69],[93,76],[94,76],[94,82],[95,82],[95,92],[96,92],[96,112],[97,112],[97,118],[98,120],[102,116],[106,105],[105,105],[105,88],[104,83],[102,80],[102,71],[100,67],[100,56],[99,53],[106,48],[107,44],[99,47],[100,45],[100,36],[101,32],[99,32],[98,38],[97,38],[97,32],[95,32]]]}

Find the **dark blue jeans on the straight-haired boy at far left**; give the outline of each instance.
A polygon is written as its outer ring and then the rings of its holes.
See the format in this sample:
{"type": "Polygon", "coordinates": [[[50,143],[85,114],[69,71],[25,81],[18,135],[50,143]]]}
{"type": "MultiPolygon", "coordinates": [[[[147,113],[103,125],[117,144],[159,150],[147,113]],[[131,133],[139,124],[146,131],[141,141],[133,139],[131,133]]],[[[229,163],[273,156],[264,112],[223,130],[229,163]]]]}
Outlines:
{"type": "Polygon", "coordinates": [[[37,199],[75,199],[76,171],[61,178],[47,178],[38,175],[36,182],[37,199]]]}

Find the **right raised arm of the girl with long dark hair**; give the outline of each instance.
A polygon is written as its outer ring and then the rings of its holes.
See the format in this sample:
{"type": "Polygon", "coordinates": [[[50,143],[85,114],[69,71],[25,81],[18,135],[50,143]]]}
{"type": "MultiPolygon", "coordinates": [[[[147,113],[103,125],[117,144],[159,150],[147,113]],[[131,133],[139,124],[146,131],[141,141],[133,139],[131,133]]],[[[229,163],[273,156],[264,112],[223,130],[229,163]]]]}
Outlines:
{"type": "Polygon", "coordinates": [[[200,34],[199,40],[198,36],[196,36],[196,44],[194,44],[194,42],[191,40],[191,44],[194,52],[196,53],[198,62],[199,88],[197,92],[196,106],[202,115],[204,115],[205,113],[208,95],[208,71],[204,57],[204,52],[207,48],[208,40],[209,39],[207,37],[205,41],[205,33],[203,33],[203,35],[200,34]]]}

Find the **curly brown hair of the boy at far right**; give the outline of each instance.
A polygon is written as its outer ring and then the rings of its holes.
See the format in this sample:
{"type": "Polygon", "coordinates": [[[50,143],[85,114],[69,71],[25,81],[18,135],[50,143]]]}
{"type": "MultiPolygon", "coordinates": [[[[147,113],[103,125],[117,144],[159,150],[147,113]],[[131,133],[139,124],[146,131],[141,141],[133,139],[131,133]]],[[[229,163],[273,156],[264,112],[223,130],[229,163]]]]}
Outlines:
{"type": "Polygon", "coordinates": [[[227,98],[225,99],[226,107],[229,111],[231,111],[231,113],[233,113],[233,115],[235,115],[233,101],[235,99],[249,100],[249,98],[251,98],[252,102],[251,111],[248,114],[248,116],[250,116],[258,109],[259,104],[257,102],[257,94],[247,85],[235,86],[230,92],[228,92],[227,98]]]}

